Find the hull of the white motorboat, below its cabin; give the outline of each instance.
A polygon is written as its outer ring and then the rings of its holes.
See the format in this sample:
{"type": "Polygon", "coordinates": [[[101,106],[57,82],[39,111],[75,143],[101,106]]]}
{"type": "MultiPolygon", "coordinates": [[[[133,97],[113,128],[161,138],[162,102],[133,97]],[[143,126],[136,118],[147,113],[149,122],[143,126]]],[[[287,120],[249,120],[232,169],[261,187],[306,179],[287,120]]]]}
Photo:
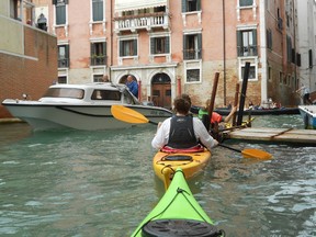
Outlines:
{"type": "MultiPolygon", "coordinates": [[[[29,123],[33,129],[74,128],[83,131],[117,129],[135,126],[113,117],[111,105],[43,104],[37,101],[15,101],[7,99],[2,104],[9,112],[29,123]]],[[[161,122],[172,113],[163,108],[126,104],[154,122],[161,122]]],[[[137,124],[140,125],[140,124],[137,124]]],[[[146,124],[143,124],[145,126],[146,124]]]]}

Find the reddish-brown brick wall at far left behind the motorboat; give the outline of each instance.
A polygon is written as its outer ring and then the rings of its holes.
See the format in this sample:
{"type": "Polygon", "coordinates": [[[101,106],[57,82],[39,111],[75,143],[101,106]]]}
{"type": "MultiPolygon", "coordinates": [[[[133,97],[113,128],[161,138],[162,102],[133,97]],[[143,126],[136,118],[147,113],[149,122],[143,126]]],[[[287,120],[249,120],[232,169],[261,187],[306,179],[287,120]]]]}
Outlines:
{"type": "MultiPolygon", "coordinates": [[[[37,100],[57,80],[57,38],[24,26],[24,55],[0,53],[0,101],[7,98],[37,100]]],[[[0,105],[0,119],[10,117],[0,105]]]]}

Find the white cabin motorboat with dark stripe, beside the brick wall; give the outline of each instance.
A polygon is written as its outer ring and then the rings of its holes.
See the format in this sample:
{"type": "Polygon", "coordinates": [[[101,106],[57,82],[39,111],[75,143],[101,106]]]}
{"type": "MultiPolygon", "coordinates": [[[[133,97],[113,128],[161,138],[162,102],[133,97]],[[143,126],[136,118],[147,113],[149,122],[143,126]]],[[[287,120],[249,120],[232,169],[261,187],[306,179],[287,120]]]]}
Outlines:
{"type": "Polygon", "coordinates": [[[111,82],[54,84],[38,101],[5,99],[2,102],[14,117],[27,122],[35,131],[63,127],[98,131],[136,125],[114,119],[113,104],[133,109],[154,122],[172,115],[167,109],[142,104],[125,84],[111,82]]]}

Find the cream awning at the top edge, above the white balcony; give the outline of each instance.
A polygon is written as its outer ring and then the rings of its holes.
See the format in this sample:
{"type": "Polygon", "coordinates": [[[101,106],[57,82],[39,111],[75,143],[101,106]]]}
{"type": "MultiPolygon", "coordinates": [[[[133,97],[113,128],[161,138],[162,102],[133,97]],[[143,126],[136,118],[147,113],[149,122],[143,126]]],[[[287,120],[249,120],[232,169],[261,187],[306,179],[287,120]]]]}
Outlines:
{"type": "Polygon", "coordinates": [[[115,0],[115,11],[132,11],[167,5],[168,0],[115,0]]]}

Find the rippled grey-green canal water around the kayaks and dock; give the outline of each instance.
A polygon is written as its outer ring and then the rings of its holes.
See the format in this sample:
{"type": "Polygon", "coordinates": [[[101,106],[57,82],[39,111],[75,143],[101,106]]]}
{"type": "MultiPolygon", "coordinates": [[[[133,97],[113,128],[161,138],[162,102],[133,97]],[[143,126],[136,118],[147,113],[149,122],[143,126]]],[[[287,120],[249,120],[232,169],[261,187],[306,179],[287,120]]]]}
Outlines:
{"type": "MultiPolygon", "coordinates": [[[[303,128],[300,115],[253,126],[303,128]]],[[[163,194],[151,169],[155,126],[32,132],[0,124],[0,236],[131,236],[163,194]]],[[[228,140],[189,185],[226,236],[316,236],[316,147],[228,140]]]]}

